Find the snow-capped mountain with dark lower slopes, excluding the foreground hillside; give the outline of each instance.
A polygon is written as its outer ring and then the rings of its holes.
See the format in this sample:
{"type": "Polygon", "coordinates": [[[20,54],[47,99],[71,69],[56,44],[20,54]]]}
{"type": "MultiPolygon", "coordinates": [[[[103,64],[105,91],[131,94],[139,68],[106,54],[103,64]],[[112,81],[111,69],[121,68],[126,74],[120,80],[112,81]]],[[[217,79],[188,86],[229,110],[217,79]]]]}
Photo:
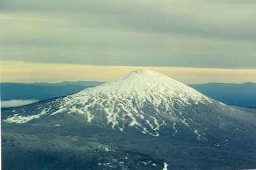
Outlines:
{"type": "MultiPolygon", "coordinates": [[[[256,114],[243,110],[163,74],[137,70],[74,95],[5,110],[1,128],[11,136],[68,136],[72,142],[75,139],[74,153],[84,150],[83,142],[74,138],[79,136],[161,159],[160,168],[165,162],[171,169],[255,169],[256,114]]],[[[4,153],[15,150],[11,136],[4,139],[8,140],[4,153]]],[[[23,138],[18,137],[17,146],[23,138]]],[[[58,137],[58,143],[62,140],[58,137]]],[[[45,142],[40,141],[40,145],[45,142]]],[[[47,148],[49,143],[44,145],[47,148]]]]}

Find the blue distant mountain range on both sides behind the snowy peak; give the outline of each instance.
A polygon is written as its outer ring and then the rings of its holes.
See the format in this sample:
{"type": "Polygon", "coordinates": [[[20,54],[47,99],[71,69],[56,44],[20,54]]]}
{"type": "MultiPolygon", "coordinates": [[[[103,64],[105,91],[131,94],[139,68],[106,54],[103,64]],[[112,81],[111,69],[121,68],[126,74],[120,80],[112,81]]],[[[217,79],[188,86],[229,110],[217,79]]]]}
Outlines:
{"type": "MultiPolygon", "coordinates": [[[[104,82],[77,81],[50,84],[39,82],[32,84],[1,83],[1,100],[47,100],[59,96],[72,95],[86,88],[103,84],[104,82]]],[[[207,83],[188,84],[200,93],[219,100],[227,105],[256,108],[256,84],[207,83]]]]}

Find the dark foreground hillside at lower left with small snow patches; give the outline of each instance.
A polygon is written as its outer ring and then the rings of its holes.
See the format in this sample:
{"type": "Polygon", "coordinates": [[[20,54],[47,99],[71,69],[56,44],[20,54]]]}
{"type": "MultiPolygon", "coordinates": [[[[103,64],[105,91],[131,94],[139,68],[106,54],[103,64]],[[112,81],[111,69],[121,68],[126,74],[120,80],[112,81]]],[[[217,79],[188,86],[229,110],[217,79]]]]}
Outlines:
{"type": "Polygon", "coordinates": [[[3,169],[163,169],[163,160],[77,136],[2,133],[3,169]]]}

